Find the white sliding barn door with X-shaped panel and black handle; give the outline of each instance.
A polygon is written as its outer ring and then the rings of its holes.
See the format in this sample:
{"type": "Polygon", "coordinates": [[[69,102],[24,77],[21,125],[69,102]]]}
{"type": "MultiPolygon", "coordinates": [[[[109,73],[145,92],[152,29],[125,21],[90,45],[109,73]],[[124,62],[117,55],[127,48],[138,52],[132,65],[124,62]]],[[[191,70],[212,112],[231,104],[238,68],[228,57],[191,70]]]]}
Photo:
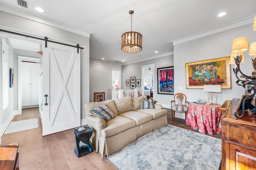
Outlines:
{"type": "Polygon", "coordinates": [[[80,126],[80,49],[43,47],[42,101],[43,136],[80,126]]]}

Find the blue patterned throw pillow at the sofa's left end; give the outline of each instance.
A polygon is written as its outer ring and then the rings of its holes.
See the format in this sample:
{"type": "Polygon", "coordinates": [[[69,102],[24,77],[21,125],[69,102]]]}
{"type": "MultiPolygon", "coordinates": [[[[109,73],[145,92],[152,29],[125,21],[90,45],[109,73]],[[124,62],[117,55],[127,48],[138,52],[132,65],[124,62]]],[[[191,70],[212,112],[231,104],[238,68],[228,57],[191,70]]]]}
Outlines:
{"type": "Polygon", "coordinates": [[[104,119],[106,122],[116,117],[116,114],[113,113],[106,105],[98,106],[95,109],[92,109],[90,113],[95,117],[104,119]]]}

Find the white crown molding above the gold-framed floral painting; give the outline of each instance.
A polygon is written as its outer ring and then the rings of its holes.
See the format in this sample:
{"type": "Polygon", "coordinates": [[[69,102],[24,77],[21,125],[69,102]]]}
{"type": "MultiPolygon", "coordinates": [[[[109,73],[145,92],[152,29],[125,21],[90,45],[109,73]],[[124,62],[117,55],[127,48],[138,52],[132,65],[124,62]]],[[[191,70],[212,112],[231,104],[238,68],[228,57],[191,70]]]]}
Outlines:
{"type": "Polygon", "coordinates": [[[177,45],[177,44],[180,44],[180,43],[188,42],[188,41],[191,41],[191,40],[195,40],[195,39],[202,38],[202,37],[205,37],[205,36],[210,36],[212,34],[223,32],[223,31],[226,31],[226,30],[231,30],[233,28],[237,28],[237,27],[244,26],[244,25],[247,25],[247,24],[251,24],[254,21],[254,17],[255,16],[252,16],[252,17],[246,18],[244,20],[239,20],[239,21],[232,22],[232,23],[224,25],[224,26],[220,26],[220,27],[213,28],[213,29],[210,29],[210,30],[207,30],[207,31],[204,31],[204,32],[200,32],[198,34],[194,34],[194,35],[191,35],[191,36],[180,38],[178,40],[171,41],[170,43],[173,43],[173,45],[177,45]]]}

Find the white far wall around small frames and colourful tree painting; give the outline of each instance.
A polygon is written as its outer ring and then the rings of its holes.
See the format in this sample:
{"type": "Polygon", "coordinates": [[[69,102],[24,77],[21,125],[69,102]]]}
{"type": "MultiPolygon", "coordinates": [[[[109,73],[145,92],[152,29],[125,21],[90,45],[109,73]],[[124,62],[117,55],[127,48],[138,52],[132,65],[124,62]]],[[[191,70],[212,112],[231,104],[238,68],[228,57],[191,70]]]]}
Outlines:
{"type": "MultiPolygon", "coordinates": [[[[128,65],[122,65],[122,89],[130,89],[129,86],[126,86],[124,81],[130,79],[130,77],[135,77],[136,79],[141,79],[141,66],[154,64],[154,87],[153,87],[153,98],[158,101],[159,104],[162,104],[165,108],[170,108],[170,101],[173,100],[173,95],[163,95],[157,94],[157,68],[173,66],[173,55],[168,55],[165,57],[159,57],[156,59],[150,59],[147,61],[141,61],[138,63],[132,63],[128,65]]],[[[176,67],[174,66],[174,75],[176,73],[176,67]]],[[[174,79],[175,81],[175,79],[174,79]]],[[[143,80],[141,80],[141,85],[139,88],[139,93],[141,94],[141,89],[144,89],[143,80]]]]}

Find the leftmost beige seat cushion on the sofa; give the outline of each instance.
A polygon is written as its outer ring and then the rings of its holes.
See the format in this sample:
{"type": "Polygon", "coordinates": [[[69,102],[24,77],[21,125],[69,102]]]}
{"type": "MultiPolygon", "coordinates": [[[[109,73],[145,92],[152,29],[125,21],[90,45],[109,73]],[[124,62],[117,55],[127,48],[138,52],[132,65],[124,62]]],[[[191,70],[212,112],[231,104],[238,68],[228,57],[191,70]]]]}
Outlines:
{"type": "Polygon", "coordinates": [[[106,125],[107,127],[101,130],[101,136],[103,138],[113,136],[115,134],[123,132],[124,130],[135,127],[136,122],[132,119],[117,115],[115,119],[111,119],[106,123],[106,125]]]}

